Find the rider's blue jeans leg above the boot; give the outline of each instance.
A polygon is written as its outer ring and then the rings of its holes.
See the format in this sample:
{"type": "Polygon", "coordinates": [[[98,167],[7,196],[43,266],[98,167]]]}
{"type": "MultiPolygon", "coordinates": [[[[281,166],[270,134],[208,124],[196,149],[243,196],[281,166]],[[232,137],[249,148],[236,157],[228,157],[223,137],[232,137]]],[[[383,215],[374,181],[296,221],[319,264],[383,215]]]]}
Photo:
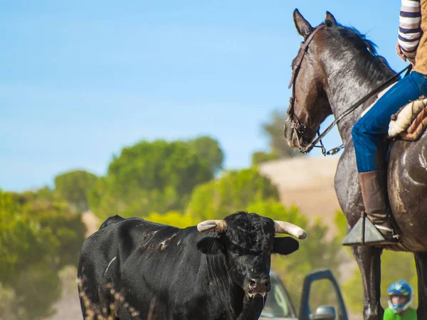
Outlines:
{"type": "Polygon", "coordinates": [[[427,94],[427,75],[411,72],[399,80],[354,124],[352,137],[359,173],[378,170],[392,114],[408,102],[427,94]]]}

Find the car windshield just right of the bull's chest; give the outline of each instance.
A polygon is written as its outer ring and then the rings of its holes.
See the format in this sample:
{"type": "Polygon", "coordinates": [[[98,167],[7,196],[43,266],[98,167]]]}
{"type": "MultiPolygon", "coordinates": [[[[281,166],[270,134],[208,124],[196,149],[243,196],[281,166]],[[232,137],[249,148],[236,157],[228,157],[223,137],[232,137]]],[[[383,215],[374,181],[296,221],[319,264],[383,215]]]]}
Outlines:
{"type": "Polygon", "coordinates": [[[283,289],[278,277],[270,277],[271,290],[261,316],[265,318],[287,318],[292,316],[288,295],[283,289]]]}

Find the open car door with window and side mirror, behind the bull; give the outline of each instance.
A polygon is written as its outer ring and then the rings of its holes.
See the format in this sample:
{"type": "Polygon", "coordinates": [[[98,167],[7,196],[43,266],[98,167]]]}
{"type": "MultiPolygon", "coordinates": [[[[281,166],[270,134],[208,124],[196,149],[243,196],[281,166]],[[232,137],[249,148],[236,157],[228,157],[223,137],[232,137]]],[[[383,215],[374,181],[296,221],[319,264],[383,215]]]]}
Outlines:
{"type": "Polygon", "coordinates": [[[299,320],[348,320],[337,280],[329,269],[307,274],[299,320]]]}

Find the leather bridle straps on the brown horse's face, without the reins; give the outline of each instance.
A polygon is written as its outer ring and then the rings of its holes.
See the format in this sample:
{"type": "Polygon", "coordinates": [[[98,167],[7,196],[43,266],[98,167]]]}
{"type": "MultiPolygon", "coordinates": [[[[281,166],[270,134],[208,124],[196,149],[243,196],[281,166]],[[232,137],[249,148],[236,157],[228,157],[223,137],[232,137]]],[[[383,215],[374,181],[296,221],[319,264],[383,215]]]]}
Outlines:
{"type": "MultiPolygon", "coordinates": [[[[289,100],[288,117],[290,119],[290,122],[292,123],[292,128],[294,132],[297,134],[297,137],[302,137],[302,139],[308,139],[310,137],[313,137],[315,132],[313,132],[312,129],[310,129],[309,127],[306,127],[305,124],[302,124],[302,122],[300,122],[300,119],[298,119],[298,117],[295,115],[295,82],[297,81],[297,75],[300,72],[302,60],[304,59],[305,53],[308,50],[308,45],[314,38],[317,31],[320,31],[322,28],[325,28],[324,24],[315,28],[315,30],[310,33],[310,36],[308,36],[307,40],[300,44],[300,50],[298,50],[297,58],[295,58],[295,64],[292,66],[292,78],[290,78],[290,82],[288,85],[288,89],[292,87],[292,96],[289,100]]],[[[298,144],[299,143],[300,140],[298,139],[298,144]]],[[[299,147],[300,152],[306,153],[304,152],[304,148],[302,148],[302,146],[299,147]]]]}

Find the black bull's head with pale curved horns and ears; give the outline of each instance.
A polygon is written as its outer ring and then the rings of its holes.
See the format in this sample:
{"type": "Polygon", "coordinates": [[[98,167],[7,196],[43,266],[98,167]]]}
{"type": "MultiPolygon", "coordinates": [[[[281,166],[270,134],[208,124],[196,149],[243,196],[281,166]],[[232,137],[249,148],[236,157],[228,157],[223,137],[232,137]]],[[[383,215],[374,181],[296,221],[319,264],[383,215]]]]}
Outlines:
{"type": "Polygon", "coordinates": [[[274,221],[256,213],[235,213],[224,220],[207,220],[197,225],[199,232],[218,233],[197,243],[208,255],[225,255],[228,274],[249,298],[265,297],[270,291],[271,255],[289,255],[298,250],[297,240],[275,238],[286,233],[304,239],[305,231],[291,223],[274,221]]]}

